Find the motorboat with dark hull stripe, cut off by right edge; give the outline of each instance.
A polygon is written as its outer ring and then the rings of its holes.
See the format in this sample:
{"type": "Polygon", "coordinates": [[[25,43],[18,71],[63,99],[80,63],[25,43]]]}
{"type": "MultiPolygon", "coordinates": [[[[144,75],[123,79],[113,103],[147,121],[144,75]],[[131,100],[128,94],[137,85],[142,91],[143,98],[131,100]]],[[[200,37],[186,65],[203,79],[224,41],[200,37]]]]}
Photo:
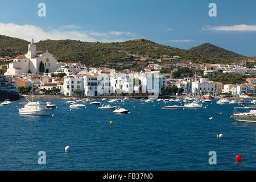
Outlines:
{"type": "Polygon", "coordinates": [[[237,111],[237,109],[245,109],[245,107],[234,107],[234,113],[230,118],[242,122],[256,123],[256,110],[250,110],[241,113],[240,111],[237,111]]]}

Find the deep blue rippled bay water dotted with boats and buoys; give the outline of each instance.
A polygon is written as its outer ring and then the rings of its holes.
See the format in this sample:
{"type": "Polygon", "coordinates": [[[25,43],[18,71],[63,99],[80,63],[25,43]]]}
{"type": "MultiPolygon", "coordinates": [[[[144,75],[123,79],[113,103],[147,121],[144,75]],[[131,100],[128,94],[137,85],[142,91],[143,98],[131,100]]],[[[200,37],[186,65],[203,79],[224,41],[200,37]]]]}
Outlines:
{"type": "Polygon", "coordinates": [[[67,100],[52,101],[53,117],[19,115],[19,102],[0,107],[0,170],[256,169],[256,125],[229,118],[238,105],[165,110],[177,103],[135,100],[118,102],[130,109],[120,115],[88,103],[70,111],[67,100]],[[46,165],[38,164],[39,151],[46,165]],[[209,151],[216,151],[217,165],[208,163],[209,151]]]}

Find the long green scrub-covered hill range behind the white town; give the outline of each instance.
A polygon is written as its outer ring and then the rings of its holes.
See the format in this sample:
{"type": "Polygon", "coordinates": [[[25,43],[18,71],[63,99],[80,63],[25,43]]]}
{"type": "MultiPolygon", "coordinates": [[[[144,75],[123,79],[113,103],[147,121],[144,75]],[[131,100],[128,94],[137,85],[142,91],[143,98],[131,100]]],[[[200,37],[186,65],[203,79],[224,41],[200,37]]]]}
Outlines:
{"type": "MultiPolygon", "coordinates": [[[[27,53],[28,44],[26,40],[0,35],[0,57],[24,55],[27,53]]],[[[193,63],[232,63],[233,60],[238,59],[238,56],[245,57],[208,43],[203,45],[185,50],[163,46],[146,39],[116,43],[44,40],[36,43],[36,49],[38,51],[48,50],[61,61],[81,61],[91,66],[131,63],[132,67],[138,67],[139,63],[143,63],[145,59],[136,60],[134,57],[150,57],[151,60],[160,60],[161,55],[181,57],[181,59],[164,61],[164,64],[174,64],[181,60],[189,60],[193,63]]]]}

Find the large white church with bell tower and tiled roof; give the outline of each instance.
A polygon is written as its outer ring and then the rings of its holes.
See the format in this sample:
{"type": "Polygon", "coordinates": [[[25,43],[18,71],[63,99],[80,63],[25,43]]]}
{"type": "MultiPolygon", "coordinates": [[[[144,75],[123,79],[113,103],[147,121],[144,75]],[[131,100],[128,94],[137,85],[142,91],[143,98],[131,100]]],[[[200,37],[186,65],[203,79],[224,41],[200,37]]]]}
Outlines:
{"type": "Polygon", "coordinates": [[[9,68],[5,75],[22,76],[23,73],[36,74],[40,72],[40,64],[44,65],[44,72],[55,72],[57,69],[57,60],[51,53],[36,51],[34,39],[28,44],[28,52],[26,55],[19,55],[15,57],[14,61],[9,63],[9,68]],[[42,62],[42,63],[41,63],[42,62]]]}

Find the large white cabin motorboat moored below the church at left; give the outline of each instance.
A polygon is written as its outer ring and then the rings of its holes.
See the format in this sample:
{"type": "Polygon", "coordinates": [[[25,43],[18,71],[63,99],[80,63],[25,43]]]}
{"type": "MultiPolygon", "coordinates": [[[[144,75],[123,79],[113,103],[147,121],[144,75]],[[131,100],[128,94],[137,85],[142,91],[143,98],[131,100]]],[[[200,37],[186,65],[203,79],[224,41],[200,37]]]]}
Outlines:
{"type": "Polygon", "coordinates": [[[28,102],[28,104],[24,105],[19,109],[19,114],[27,114],[27,115],[50,115],[51,110],[47,108],[47,104],[45,102],[37,101],[37,102],[28,102]]]}

